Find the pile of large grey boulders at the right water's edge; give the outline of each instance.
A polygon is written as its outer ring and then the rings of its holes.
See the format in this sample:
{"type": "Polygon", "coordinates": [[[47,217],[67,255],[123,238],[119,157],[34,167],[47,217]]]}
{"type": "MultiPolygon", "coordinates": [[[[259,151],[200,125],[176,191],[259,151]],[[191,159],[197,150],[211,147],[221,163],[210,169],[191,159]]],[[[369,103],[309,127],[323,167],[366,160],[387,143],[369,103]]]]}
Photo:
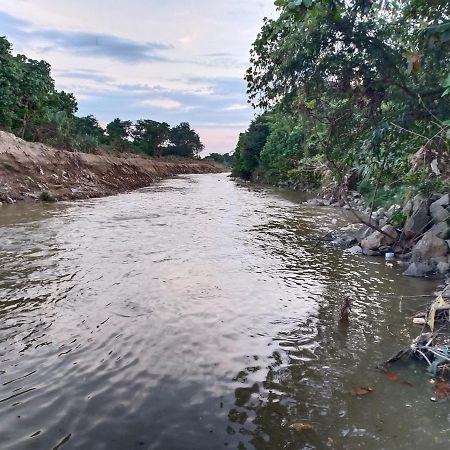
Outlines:
{"type": "MultiPolygon", "coordinates": [[[[401,210],[406,216],[403,228],[391,224],[399,211],[398,205],[387,211],[376,211],[371,223],[382,232],[365,225],[359,227],[346,237],[346,244],[357,244],[350,248],[350,252],[369,256],[393,253],[405,266],[404,274],[408,276],[446,274],[450,268],[449,194],[414,197],[401,210]]],[[[365,219],[368,221],[367,217],[365,219]]]]}

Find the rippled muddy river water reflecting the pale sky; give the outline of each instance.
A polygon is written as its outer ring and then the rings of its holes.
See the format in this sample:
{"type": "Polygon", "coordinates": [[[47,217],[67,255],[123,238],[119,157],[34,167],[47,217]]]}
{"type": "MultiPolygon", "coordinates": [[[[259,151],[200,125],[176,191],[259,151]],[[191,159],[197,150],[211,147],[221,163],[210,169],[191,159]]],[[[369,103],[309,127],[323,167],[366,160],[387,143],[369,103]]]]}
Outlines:
{"type": "Polygon", "coordinates": [[[0,448],[447,449],[424,367],[374,369],[436,282],[316,246],[341,214],[225,175],[2,207],[0,448]]]}

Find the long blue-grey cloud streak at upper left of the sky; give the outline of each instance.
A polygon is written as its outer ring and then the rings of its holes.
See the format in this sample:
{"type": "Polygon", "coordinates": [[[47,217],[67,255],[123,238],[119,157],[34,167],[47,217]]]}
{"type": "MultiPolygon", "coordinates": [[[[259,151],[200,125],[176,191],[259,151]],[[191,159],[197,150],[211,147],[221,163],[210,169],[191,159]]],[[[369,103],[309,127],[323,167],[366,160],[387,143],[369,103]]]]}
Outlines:
{"type": "Polygon", "coordinates": [[[36,42],[45,51],[70,52],[91,58],[106,58],[122,63],[167,61],[162,51],[172,45],[159,42],[138,42],[112,34],[81,31],[34,29],[31,22],[0,12],[0,25],[8,35],[22,42],[36,42]]]}

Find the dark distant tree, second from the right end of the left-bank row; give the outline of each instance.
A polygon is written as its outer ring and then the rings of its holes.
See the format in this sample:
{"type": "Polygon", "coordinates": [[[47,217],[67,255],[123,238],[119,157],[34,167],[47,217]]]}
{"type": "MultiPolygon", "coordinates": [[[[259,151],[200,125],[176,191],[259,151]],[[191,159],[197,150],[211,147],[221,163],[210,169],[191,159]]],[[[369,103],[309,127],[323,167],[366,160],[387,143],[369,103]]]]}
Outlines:
{"type": "Polygon", "coordinates": [[[138,120],[133,130],[134,144],[138,150],[150,156],[160,156],[161,147],[169,137],[170,126],[166,122],[138,120]]]}

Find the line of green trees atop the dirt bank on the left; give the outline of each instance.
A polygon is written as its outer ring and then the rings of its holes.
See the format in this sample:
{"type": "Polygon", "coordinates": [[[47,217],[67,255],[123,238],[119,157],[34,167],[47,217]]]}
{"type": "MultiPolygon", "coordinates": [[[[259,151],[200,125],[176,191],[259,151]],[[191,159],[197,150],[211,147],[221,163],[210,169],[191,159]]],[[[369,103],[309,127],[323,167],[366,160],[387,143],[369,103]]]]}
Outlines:
{"type": "Polygon", "coordinates": [[[0,37],[0,129],[34,142],[92,152],[136,152],[149,156],[193,158],[203,150],[199,135],[182,122],[114,119],[105,128],[92,116],[78,117],[72,93],[58,91],[45,61],[12,54],[0,37]]]}

